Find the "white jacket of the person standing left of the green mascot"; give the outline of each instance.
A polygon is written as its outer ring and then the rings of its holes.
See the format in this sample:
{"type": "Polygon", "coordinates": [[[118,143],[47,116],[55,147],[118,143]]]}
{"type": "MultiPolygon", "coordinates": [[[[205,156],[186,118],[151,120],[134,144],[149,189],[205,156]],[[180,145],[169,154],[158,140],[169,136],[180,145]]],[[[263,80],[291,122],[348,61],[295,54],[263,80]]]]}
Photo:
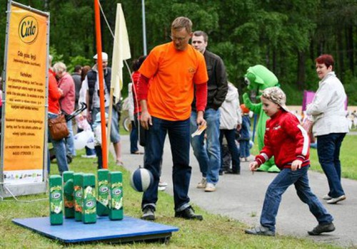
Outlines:
{"type": "Polygon", "coordinates": [[[221,119],[219,129],[236,129],[242,123],[241,106],[239,105],[238,89],[228,82],[226,100],[219,107],[221,119]]]}

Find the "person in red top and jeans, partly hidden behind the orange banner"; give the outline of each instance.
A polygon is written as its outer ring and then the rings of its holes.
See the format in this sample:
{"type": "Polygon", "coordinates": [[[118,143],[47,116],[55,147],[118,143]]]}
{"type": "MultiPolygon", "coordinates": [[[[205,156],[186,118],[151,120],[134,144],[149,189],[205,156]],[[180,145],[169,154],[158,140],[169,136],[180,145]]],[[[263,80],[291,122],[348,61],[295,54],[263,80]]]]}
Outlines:
{"type": "MultiPolygon", "coordinates": [[[[58,88],[57,86],[57,80],[55,77],[54,71],[51,69],[51,61],[52,61],[52,56],[50,55],[49,58],[49,112],[48,112],[48,118],[49,120],[51,119],[56,119],[56,117],[59,117],[61,115],[61,108],[59,106],[59,99],[62,96],[62,90],[58,88]]],[[[50,123],[50,122],[49,122],[50,123]]],[[[66,123],[64,123],[66,124],[66,123]]],[[[53,136],[51,136],[51,133],[49,132],[49,139],[51,140],[55,153],[56,153],[56,161],[57,165],[59,166],[59,174],[62,175],[64,171],[68,171],[69,167],[67,164],[67,158],[66,158],[66,145],[64,143],[64,138],[61,139],[54,139],[53,136]]],[[[50,172],[50,165],[51,161],[49,159],[49,153],[48,153],[48,163],[47,163],[47,169],[50,172]]]]}

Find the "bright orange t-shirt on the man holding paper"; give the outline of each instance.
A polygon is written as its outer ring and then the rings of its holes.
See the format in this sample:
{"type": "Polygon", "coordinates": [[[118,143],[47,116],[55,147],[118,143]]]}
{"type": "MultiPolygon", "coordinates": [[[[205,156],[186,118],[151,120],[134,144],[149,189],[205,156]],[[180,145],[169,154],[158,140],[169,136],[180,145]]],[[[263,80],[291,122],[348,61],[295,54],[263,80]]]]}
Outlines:
{"type": "Polygon", "coordinates": [[[203,55],[191,45],[185,51],[178,51],[172,42],[156,46],[139,72],[151,79],[147,100],[150,115],[163,120],[188,119],[193,84],[208,81],[203,55]]]}

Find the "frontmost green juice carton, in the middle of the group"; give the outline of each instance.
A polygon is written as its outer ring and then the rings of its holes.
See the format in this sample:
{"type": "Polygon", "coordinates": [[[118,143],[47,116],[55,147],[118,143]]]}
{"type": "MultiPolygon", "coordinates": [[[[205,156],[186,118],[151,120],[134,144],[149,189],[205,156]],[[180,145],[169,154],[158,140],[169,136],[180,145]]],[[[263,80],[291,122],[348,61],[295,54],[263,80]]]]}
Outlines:
{"type": "Polygon", "coordinates": [[[84,174],[82,189],[82,221],[84,223],[96,223],[96,176],[94,174],[84,174]]]}

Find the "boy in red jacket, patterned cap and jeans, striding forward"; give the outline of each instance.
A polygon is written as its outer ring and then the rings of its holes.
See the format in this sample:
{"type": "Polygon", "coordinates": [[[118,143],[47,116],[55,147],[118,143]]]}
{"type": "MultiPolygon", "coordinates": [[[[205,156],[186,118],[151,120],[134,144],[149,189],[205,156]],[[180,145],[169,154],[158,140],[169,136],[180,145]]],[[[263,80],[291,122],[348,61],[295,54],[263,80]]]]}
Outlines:
{"type": "Polygon", "coordinates": [[[261,95],[263,111],[271,117],[266,121],[264,147],[256,159],[249,164],[251,171],[271,157],[275,158],[280,173],[266,190],[261,211],[261,226],[246,230],[253,235],[275,235],[276,215],[282,194],[292,184],[295,185],[298,197],[308,204],[318,226],[308,231],[309,235],[319,235],[335,230],[333,217],[326,211],[308,185],[309,138],[295,115],[288,112],[285,105],[286,95],[277,87],[266,88],[261,95]]]}

